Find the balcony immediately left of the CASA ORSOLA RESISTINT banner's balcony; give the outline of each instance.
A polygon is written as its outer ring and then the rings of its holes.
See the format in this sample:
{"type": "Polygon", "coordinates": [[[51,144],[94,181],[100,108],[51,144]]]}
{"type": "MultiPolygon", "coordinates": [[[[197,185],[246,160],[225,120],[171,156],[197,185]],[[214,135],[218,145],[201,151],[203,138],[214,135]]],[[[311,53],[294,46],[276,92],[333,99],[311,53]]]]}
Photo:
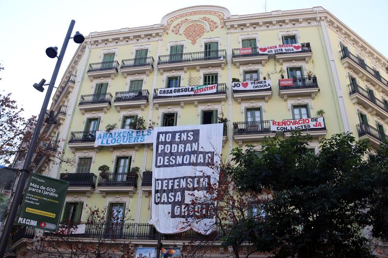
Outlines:
{"type": "Polygon", "coordinates": [[[114,95],[114,107],[117,112],[122,108],[138,108],[144,110],[148,106],[148,90],[141,91],[118,91],[114,95]]]}

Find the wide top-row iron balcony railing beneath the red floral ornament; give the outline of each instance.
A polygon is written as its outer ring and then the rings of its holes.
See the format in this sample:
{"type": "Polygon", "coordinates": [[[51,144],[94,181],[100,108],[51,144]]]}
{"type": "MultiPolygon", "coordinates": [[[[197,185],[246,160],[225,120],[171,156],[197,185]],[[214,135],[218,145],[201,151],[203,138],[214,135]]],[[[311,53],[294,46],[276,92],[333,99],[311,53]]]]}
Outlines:
{"type": "Polygon", "coordinates": [[[163,55],[158,57],[158,64],[208,61],[216,59],[226,60],[226,49],[163,55]]]}

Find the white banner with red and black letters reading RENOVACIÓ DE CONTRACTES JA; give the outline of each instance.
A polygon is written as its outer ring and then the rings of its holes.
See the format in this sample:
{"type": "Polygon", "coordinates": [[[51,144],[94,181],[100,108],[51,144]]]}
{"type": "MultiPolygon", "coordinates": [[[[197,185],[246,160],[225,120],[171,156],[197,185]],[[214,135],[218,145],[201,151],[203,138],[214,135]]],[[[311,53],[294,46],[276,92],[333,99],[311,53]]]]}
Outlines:
{"type": "Polygon", "coordinates": [[[271,121],[271,131],[293,131],[324,128],[323,117],[271,121]]]}

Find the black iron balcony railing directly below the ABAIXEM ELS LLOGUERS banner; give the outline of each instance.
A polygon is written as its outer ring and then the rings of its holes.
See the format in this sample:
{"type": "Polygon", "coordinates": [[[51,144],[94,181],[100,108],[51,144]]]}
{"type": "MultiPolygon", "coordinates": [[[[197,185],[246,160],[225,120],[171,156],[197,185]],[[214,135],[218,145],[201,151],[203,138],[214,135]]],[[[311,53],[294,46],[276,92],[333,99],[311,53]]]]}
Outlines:
{"type": "Polygon", "coordinates": [[[136,173],[100,173],[98,186],[132,186],[137,188],[136,173]]]}

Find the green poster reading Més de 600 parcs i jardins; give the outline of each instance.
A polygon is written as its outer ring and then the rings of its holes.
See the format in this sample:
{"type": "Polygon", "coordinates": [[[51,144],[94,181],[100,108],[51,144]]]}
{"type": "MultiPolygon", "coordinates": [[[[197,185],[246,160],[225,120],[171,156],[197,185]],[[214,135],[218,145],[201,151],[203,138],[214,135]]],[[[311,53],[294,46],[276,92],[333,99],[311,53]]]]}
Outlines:
{"type": "Polygon", "coordinates": [[[69,182],[31,174],[16,224],[56,232],[69,182]]]}

